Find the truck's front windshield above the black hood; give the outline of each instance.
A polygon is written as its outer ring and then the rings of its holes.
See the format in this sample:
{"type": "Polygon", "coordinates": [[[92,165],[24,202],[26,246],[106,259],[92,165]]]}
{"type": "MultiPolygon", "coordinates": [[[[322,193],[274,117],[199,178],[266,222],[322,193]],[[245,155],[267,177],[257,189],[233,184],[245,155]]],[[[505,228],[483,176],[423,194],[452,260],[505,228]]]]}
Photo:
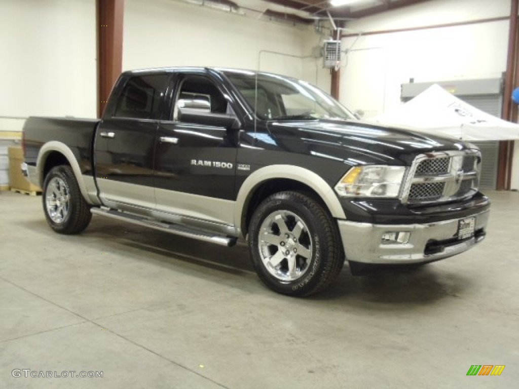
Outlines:
{"type": "Polygon", "coordinates": [[[355,119],[330,95],[308,82],[275,74],[227,71],[258,119],[355,119]]]}

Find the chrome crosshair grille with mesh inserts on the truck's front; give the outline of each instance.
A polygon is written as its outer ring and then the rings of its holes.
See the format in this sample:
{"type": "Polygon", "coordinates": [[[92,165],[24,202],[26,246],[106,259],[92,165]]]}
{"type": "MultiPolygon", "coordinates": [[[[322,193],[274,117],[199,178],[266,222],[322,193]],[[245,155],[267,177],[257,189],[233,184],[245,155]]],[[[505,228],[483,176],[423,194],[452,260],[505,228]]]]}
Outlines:
{"type": "Polygon", "coordinates": [[[477,192],[481,154],[476,150],[418,156],[407,179],[403,202],[427,204],[468,198],[477,192]]]}

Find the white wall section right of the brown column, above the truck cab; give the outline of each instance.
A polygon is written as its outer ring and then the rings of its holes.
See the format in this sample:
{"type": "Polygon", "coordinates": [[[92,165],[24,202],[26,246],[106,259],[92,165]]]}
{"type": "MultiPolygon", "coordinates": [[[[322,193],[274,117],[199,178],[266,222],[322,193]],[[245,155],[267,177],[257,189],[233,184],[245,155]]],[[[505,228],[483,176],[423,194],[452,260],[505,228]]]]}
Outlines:
{"type": "MultiPolygon", "coordinates": [[[[312,27],[290,26],[231,15],[173,0],[126,0],[123,68],[222,66],[248,68],[303,78],[330,90],[321,61],[262,53],[305,56],[322,39],[312,27]]],[[[240,5],[248,5],[240,0],[240,5]]],[[[261,2],[260,2],[261,3],[261,2]]],[[[261,4],[254,2],[254,7],[261,4]]],[[[266,7],[264,7],[266,8],[266,7]]]]}

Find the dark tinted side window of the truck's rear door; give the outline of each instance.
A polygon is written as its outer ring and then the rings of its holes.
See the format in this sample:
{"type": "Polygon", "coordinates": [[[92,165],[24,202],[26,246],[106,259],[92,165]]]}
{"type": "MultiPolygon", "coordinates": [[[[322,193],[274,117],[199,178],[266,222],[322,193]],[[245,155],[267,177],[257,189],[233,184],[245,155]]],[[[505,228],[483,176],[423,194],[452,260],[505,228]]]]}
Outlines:
{"type": "Polygon", "coordinates": [[[168,75],[135,76],[119,95],[114,117],[157,119],[168,75]]]}

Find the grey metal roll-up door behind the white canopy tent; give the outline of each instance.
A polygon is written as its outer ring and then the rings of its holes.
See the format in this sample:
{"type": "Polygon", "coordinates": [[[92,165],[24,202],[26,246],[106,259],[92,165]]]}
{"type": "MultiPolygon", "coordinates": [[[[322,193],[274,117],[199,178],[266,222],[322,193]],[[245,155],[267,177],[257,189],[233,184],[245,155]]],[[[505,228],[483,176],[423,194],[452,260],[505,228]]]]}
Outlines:
{"type": "MultiPolygon", "coordinates": [[[[457,98],[477,109],[481,109],[483,112],[501,117],[502,80],[500,78],[402,84],[402,101],[406,102],[411,100],[433,84],[439,84],[445,90],[453,93],[457,98]]],[[[496,189],[499,165],[499,142],[485,141],[471,143],[480,148],[481,157],[483,159],[481,164],[480,187],[484,189],[496,189]]]]}

